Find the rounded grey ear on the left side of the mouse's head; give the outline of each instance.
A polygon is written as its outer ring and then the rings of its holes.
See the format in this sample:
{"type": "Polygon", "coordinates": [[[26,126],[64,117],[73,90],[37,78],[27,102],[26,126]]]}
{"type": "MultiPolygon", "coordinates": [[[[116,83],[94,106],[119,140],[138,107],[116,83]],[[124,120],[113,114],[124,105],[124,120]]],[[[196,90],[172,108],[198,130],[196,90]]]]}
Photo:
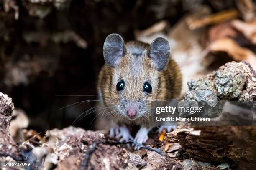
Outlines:
{"type": "Polygon", "coordinates": [[[123,38],[119,34],[110,34],[106,37],[103,45],[103,56],[109,67],[114,68],[121,62],[121,57],[125,55],[125,45],[123,38]]]}

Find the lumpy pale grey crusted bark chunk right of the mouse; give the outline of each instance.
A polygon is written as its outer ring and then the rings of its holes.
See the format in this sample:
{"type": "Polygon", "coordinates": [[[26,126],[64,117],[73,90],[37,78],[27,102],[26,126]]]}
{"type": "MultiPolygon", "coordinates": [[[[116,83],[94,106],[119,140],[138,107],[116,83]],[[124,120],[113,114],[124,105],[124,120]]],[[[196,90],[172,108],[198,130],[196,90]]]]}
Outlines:
{"type": "Polygon", "coordinates": [[[185,100],[219,99],[253,101],[256,99],[256,72],[245,61],[228,62],[203,79],[188,82],[185,100]]]}

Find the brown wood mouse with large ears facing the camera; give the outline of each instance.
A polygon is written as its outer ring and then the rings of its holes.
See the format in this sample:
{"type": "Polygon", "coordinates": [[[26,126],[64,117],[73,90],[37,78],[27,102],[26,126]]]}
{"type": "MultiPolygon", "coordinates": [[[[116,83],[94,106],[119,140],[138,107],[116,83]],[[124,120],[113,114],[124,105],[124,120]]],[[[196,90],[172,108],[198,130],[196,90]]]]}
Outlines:
{"type": "MultiPolygon", "coordinates": [[[[172,100],[180,95],[182,75],[170,56],[169,42],[156,38],[151,45],[110,34],[103,45],[105,65],[97,90],[105,115],[112,120],[110,137],[133,139],[127,125],[139,125],[134,140],[144,143],[152,128],[151,101],[172,100]]],[[[138,148],[137,148],[138,149],[138,148]]]]}

